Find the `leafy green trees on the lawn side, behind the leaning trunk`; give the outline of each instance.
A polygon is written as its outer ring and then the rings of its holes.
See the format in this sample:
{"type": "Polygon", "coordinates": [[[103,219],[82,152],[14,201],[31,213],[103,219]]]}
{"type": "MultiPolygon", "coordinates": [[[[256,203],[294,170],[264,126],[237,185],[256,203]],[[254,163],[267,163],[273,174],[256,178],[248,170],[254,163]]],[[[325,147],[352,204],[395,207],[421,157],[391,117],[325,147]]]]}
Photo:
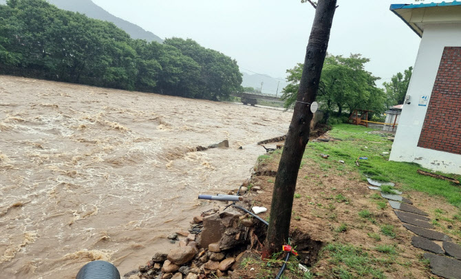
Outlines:
{"type": "MultiPolygon", "coordinates": [[[[411,70],[393,76],[391,82],[384,83],[385,90],[376,87],[380,78],[365,71],[365,63],[369,59],[361,54],[351,54],[349,57],[328,54],[323,63],[323,70],[319,83],[317,101],[325,111],[325,120],[336,112],[341,116],[343,111],[373,110],[375,114],[382,114],[392,105],[403,103],[407,92],[411,70]]],[[[290,82],[283,88],[281,98],[285,100],[285,107],[291,107],[297,99],[299,83],[303,71],[303,64],[298,63],[294,68],[287,70],[290,82]]]]}

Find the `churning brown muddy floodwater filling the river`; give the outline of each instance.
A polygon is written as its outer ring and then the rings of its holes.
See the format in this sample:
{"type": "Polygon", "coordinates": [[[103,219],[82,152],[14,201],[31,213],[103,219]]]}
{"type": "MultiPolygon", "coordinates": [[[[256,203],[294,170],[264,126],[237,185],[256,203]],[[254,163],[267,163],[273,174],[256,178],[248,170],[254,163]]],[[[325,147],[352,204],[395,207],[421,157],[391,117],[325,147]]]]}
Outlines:
{"type": "Polygon", "coordinates": [[[291,112],[0,76],[0,278],[125,274],[250,175],[291,112]],[[228,149],[191,152],[228,139],[228,149]],[[243,149],[238,149],[242,146],[243,149]]]}

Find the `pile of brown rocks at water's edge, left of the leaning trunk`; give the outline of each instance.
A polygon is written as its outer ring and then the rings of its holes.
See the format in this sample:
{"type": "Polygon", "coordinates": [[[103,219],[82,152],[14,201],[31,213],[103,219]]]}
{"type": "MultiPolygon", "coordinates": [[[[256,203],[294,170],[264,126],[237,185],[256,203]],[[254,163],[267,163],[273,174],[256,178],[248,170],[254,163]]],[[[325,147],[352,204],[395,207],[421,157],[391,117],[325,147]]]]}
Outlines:
{"type": "Polygon", "coordinates": [[[171,241],[179,240],[178,248],[168,254],[157,253],[129,279],[231,276],[242,262],[246,249],[257,242],[255,222],[233,207],[213,209],[195,216],[189,231],[178,231],[169,236],[171,241]],[[202,230],[197,231],[197,226],[202,230]]]}

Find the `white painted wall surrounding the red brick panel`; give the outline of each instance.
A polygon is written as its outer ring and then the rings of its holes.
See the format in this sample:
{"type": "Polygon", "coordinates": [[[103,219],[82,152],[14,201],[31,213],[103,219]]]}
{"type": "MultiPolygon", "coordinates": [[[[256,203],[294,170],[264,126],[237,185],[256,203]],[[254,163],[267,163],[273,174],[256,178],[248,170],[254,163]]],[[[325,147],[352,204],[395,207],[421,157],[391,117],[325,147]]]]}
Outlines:
{"type": "Polygon", "coordinates": [[[445,47],[461,47],[461,23],[427,24],[407,92],[410,104],[403,106],[390,160],[414,162],[440,172],[461,174],[461,155],[418,147],[445,47]],[[419,105],[421,96],[428,96],[426,106],[419,105]]]}

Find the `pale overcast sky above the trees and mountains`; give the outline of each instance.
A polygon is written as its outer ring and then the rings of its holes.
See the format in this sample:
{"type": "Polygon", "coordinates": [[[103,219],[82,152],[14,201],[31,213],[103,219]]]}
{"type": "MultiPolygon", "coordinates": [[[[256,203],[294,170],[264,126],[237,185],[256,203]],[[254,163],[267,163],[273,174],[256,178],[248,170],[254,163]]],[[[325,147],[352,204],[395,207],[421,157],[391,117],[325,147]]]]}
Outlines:
{"type": "MultiPolygon", "coordinates": [[[[300,0],[93,0],[111,14],[162,39],[191,38],[237,60],[244,72],[285,77],[303,62],[314,8],[300,0]]],[[[360,53],[383,81],[413,66],[420,38],[391,3],[413,0],[339,0],[328,52],[360,53]]]]}

